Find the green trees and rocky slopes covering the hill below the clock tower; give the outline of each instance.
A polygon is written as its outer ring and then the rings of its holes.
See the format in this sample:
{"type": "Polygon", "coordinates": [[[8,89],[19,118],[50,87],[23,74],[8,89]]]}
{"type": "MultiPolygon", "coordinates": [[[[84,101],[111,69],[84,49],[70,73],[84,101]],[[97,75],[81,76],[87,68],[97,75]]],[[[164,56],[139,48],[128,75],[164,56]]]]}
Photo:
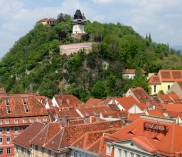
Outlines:
{"type": "Polygon", "coordinates": [[[85,32],[93,41],[102,42],[86,54],[80,50],[70,56],[59,52],[59,44],[84,42],[73,38],[69,15],[60,14],[54,27],[35,24],[34,28],[15,42],[0,62],[0,87],[8,93],[39,93],[52,98],[58,93],[72,93],[82,101],[89,97],[121,96],[128,88],[150,88],[141,69],[182,69],[182,58],[169,45],[155,43],[151,35],[141,37],[131,26],[120,23],[87,21],[85,32]],[[66,32],[64,39],[59,32],[66,32]],[[123,79],[124,68],[135,68],[133,80],[123,79]]]}

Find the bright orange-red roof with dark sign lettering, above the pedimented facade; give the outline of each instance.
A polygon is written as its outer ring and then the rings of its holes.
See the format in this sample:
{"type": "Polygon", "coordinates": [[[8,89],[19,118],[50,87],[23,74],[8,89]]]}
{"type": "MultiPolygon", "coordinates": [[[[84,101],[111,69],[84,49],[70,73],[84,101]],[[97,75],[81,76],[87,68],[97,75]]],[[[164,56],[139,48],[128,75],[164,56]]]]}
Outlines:
{"type": "MultiPolygon", "coordinates": [[[[175,156],[174,153],[182,151],[182,140],[181,140],[182,127],[175,123],[158,122],[149,119],[137,119],[130,125],[120,129],[120,131],[112,134],[112,136],[119,138],[120,141],[126,139],[132,139],[138,136],[146,137],[149,142],[157,149],[161,155],[175,156]],[[166,126],[166,134],[162,131],[155,131],[152,129],[145,129],[144,123],[151,122],[153,124],[159,124],[166,126]],[[135,130],[133,133],[132,131],[135,130]]],[[[145,148],[146,142],[141,146],[145,148]]]]}

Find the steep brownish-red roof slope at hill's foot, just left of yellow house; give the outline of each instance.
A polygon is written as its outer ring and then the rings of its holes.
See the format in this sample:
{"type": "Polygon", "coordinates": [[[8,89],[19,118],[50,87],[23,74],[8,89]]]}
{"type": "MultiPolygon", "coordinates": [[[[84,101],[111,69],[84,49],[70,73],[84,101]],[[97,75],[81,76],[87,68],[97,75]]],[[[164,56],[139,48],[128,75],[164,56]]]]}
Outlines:
{"type": "Polygon", "coordinates": [[[149,95],[142,87],[131,88],[130,90],[139,102],[146,102],[150,100],[149,95]]]}

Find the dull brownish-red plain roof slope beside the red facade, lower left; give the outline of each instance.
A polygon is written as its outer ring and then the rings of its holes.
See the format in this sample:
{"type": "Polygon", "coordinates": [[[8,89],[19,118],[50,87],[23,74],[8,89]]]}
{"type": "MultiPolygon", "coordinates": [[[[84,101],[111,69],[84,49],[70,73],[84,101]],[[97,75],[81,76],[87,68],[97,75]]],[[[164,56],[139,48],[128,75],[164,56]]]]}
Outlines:
{"type": "Polygon", "coordinates": [[[30,149],[30,141],[43,129],[45,124],[35,122],[24,130],[19,136],[17,136],[13,143],[20,145],[24,148],[30,149]]]}

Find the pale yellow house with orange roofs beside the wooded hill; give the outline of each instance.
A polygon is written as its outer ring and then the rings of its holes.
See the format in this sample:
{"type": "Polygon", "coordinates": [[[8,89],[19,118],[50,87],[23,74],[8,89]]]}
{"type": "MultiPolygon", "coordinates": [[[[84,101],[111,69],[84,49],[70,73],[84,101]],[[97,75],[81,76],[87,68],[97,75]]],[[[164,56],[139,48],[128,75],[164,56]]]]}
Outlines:
{"type": "Polygon", "coordinates": [[[152,94],[162,90],[166,93],[173,83],[182,80],[182,70],[159,70],[158,74],[154,74],[148,79],[148,84],[152,88],[152,94]]]}

